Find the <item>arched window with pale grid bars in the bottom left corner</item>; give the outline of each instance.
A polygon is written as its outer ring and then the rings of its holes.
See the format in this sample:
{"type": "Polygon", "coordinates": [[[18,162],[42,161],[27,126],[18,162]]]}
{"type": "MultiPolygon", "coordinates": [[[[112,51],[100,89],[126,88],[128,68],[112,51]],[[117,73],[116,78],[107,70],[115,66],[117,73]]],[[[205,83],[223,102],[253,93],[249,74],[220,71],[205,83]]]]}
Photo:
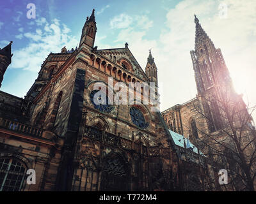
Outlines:
{"type": "Polygon", "coordinates": [[[0,157],[0,191],[20,191],[26,170],[26,165],[18,159],[0,157]]]}

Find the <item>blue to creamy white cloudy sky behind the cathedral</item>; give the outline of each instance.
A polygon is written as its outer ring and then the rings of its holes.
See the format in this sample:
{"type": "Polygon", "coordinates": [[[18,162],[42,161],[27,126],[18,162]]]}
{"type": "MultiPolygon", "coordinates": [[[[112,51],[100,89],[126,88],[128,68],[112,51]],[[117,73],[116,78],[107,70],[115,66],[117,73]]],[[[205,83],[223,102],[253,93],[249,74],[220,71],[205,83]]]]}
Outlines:
{"type": "Polygon", "coordinates": [[[189,53],[195,47],[194,14],[221,48],[237,93],[249,106],[256,105],[255,0],[1,1],[0,47],[12,40],[13,57],[0,90],[24,98],[50,52],[76,48],[93,8],[98,49],[120,48],[127,42],[143,69],[152,50],[161,111],[196,96],[189,53]],[[36,6],[35,18],[27,17],[29,3],[36,6]]]}

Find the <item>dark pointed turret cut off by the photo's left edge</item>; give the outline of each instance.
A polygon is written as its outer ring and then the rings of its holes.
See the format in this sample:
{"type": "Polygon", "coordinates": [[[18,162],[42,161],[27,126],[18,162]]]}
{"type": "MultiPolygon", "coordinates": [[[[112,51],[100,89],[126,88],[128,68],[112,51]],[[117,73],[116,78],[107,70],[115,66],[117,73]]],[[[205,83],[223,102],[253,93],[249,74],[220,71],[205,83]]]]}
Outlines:
{"type": "Polygon", "coordinates": [[[9,45],[6,45],[3,49],[0,48],[0,87],[1,83],[4,78],[4,73],[12,62],[12,52],[11,52],[11,47],[12,47],[12,41],[10,41],[9,45]]]}

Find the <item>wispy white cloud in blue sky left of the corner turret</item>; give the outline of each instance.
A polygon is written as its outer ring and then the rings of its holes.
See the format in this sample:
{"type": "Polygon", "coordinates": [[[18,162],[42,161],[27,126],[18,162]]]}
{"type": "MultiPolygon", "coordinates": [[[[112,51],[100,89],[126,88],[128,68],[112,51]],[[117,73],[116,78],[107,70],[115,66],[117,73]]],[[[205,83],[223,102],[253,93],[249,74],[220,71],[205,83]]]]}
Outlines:
{"type": "MultiPolygon", "coordinates": [[[[60,52],[64,46],[69,49],[76,47],[79,38],[70,36],[70,29],[67,25],[60,24],[60,20],[54,19],[50,23],[45,18],[38,18],[36,25],[38,28],[35,32],[24,33],[24,37],[29,40],[28,45],[19,50],[13,50],[10,68],[38,71],[50,52],[60,52]]],[[[22,37],[18,35],[16,38],[22,37]]]]}

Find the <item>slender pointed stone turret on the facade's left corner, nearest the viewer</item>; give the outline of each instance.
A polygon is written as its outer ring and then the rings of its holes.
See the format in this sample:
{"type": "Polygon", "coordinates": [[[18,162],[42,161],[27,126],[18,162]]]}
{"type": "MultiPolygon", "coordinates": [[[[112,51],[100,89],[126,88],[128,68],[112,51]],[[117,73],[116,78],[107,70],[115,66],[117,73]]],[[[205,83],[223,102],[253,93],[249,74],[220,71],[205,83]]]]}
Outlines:
{"type": "Polygon", "coordinates": [[[97,32],[94,9],[92,10],[92,15],[90,18],[86,18],[86,22],[84,23],[84,27],[82,29],[81,40],[79,43],[79,47],[84,43],[89,47],[93,47],[95,41],[95,35],[97,32]]]}

